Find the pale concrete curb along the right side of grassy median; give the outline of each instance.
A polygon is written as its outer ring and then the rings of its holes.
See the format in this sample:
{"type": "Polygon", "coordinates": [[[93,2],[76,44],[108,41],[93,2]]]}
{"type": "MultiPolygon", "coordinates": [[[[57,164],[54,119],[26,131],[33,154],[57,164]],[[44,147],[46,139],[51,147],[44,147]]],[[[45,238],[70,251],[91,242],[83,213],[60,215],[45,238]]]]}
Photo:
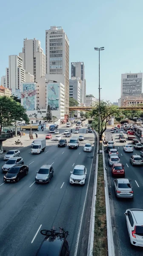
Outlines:
{"type": "Polygon", "coordinates": [[[105,191],[105,205],[106,205],[106,226],[107,226],[108,256],[115,256],[113,233],[112,233],[111,212],[110,212],[110,203],[109,203],[109,190],[108,190],[108,183],[107,183],[105,154],[104,154],[103,144],[102,144],[102,153],[103,153],[103,169],[104,169],[104,191],[105,191]]]}

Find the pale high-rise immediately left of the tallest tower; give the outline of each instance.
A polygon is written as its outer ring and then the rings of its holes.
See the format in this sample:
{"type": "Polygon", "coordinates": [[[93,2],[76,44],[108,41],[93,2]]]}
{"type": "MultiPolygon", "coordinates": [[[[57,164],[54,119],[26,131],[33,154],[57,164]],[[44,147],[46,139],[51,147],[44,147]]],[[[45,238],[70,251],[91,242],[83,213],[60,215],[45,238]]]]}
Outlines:
{"type": "Polygon", "coordinates": [[[23,59],[23,69],[25,69],[26,73],[34,76],[34,81],[41,76],[45,76],[45,54],[43,53],[39,40],[36,40],[36,38],[24,39],[23,49],[19,55],[23,59]]]}

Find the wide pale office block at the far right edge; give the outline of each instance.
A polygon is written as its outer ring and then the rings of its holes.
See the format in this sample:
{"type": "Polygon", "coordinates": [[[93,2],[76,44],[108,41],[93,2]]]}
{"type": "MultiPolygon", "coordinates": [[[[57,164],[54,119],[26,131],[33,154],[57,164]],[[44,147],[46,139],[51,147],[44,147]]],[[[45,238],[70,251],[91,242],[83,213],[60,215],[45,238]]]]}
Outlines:
{"type": "Polygon", "coordinates": [[[139,97],[142,93],[143,73],[126,73],[121,75],[121,106],[126,97],[139,97]]]}

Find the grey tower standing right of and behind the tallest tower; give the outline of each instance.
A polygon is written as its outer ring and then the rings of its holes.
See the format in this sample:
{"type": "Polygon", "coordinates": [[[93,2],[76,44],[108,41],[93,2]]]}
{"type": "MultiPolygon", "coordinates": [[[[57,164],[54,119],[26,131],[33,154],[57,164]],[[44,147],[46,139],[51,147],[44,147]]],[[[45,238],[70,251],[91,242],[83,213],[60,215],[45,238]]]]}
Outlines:
{"type": "Polygon", "coordinates": [[[71,78],[80,77],[81,83],[81,96],[80,103],[85,105],[86,103],[86,80],[83,62],[72,62],[71,63],[71,78]]]}

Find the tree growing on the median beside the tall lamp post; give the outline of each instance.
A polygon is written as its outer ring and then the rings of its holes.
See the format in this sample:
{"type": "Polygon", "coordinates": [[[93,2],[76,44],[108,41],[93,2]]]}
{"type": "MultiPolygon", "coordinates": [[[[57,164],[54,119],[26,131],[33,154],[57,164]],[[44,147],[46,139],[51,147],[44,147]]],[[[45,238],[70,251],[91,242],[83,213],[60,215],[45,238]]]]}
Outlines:
{"type": "MultiPolygon", "coordinates": [[[[102,140],[102,135],[104,131],[106,131],[106,126],[109,120],[112,118],[112,116],[120,116],[121,111],[117,106],[112,105],[111,102],[100,102],[100,134],[99,138],[102,140]]],[[[96,103],[96,108],[92,110],[91,112],[92,117],[94,117],[94,120],[92,122],[92,128],[94,128],[96,131],[98,131],[98,124],[99,124],[99,104],[96,103]]]]}

